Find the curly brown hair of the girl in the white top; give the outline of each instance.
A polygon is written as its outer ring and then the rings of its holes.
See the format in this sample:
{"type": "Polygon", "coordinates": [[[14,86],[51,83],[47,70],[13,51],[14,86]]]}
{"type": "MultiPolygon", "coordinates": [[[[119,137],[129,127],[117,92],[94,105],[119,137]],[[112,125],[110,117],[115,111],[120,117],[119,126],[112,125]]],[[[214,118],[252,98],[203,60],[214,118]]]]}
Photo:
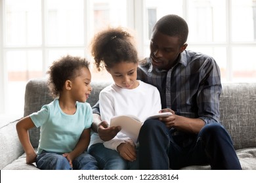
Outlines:
{"type": "Polygon", "coordinates": [[[91,54],[98,71],[104,66],[111,68],[121,61],[139,61],[133,37],[122,27],[109,27],[96,34],[91,42],[91,54]]]}

